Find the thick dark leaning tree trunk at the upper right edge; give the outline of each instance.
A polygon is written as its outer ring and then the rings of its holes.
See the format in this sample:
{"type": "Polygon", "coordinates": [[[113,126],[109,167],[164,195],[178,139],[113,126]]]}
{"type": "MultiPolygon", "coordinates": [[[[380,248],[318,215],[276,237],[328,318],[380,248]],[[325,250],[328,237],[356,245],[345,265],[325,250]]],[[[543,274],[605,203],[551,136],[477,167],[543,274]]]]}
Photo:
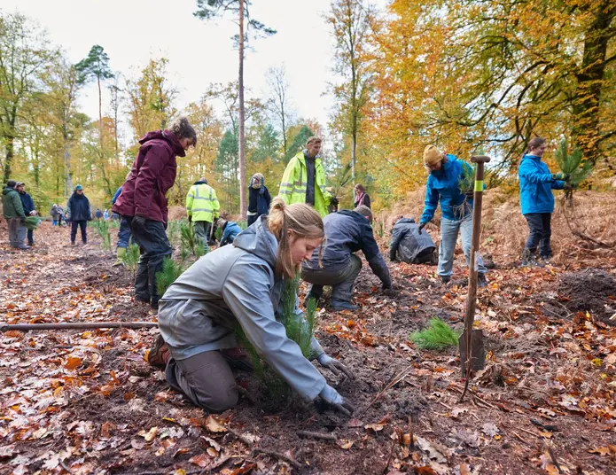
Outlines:
{"type": "Polygon", "coordinates": [[[592,165],[601,157],[599,102],[611,38],[609,28],[615,14],[616,4],[612,0],[604,0],[596,7],[594,20],[584,38],[581,67],[575,74],[578,85],[573,101],[573,141],[592,165]]]}

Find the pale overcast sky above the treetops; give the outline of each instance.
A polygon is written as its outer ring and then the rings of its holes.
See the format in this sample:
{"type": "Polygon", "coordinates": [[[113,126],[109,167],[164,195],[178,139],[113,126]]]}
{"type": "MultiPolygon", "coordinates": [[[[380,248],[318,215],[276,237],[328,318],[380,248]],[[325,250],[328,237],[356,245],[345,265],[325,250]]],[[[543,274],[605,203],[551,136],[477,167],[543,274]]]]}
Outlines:
{"type": "MultiPolygon", "coordinates": [[[[168,58],[181,108],[199,100],[210,82],[230,82],[238,75],[238,52],[230,39],[238,27],[230,17],[193,17],[196,0],[2,0],[0,5],[4,12],[37,19],[73,63],[85,58],[93,44],[103,46],[114,71],[129,76],[149,58],[168,58]]],[[[323,125],[331,111],[324,91],[335,79],[333,42],[324,20],[329,9],[330,0],[253,0],[251,17],[277,35],[252,42],[254,51],[248,51],[245,64],[246,88],[259,97],[266,90],[265,71],[284,62],[298,116],[323,125]]],[[[94,85],[80,101],[83,112],[97,117],[94,85]]],[[[105,103],[108,107],[108,97],[105,103]]]]}

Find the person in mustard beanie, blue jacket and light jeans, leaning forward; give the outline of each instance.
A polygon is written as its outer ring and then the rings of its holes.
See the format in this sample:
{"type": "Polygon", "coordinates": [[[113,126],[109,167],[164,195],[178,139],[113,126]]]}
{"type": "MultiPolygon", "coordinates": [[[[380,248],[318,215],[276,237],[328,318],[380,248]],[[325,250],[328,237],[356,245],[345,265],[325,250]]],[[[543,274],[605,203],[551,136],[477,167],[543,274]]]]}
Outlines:
{"type": "MultiPolygon", "coordinates": [[[[424,214],[419,220],[419,231],[434,217],[441,203],[441,246],[439,248],[438,273],[441,282],[451,280],[454,267],[454,251],[458,233],[462,235],[462,248],[466,264],[471,262],[472,244],[472,190],[461,190],[465,177],[472,176],[472,167],[455,155],[441,152],[434,145],[424,150],[424,165],[430,172],[425,188],[424,214]]],[[[487,285],[486,267],[478,256],[478,284],[487,285]]]]}

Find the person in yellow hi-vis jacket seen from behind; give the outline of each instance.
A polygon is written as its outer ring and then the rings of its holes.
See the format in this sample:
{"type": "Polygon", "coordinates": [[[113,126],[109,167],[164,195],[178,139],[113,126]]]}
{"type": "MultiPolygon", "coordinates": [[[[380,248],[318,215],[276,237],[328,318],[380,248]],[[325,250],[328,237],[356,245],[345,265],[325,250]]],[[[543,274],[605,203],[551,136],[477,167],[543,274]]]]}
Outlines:
{"type": "Polygon", "coordinates": [[[192,222],[195,235],[203,241],[206,251],[209,250],[210,228],[214,220],[218,219],[221,206],[216,197],[216,191],[207,184],[207,178],[195,182],[186,195],[186,213],[188,221],[192,222]]]}

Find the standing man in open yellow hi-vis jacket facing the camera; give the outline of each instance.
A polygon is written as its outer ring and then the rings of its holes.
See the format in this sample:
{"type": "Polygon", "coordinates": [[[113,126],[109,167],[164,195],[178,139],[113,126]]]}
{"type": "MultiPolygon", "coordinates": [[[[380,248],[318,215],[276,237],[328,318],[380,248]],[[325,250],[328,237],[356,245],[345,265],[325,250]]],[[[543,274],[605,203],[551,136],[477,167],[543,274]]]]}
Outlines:
{"type": "Polygon", "coordinates": [[[306,203],[314,206],[324,217],[327,206],[337,204],[338,199],[325,190],[325,170],[319,158],[321,144],[320,137],[311,136],[306,148],[289,160],[278,195],[287,205],[306,203]]]}

